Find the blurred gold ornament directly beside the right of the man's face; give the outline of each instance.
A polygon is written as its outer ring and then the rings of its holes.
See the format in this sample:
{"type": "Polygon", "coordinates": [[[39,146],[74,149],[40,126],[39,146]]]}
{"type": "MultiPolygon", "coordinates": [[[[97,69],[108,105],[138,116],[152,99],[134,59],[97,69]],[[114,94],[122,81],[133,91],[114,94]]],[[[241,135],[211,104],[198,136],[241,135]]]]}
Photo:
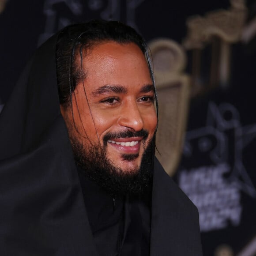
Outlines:
{"type": "Polygon", "coordinates": [[[189,77],[183,73],[186,56],[181,45],[170,39],[149,44],[158,90],[159,123],[156,156],[170,176],[179,162],[188,113],[189,77]]]}

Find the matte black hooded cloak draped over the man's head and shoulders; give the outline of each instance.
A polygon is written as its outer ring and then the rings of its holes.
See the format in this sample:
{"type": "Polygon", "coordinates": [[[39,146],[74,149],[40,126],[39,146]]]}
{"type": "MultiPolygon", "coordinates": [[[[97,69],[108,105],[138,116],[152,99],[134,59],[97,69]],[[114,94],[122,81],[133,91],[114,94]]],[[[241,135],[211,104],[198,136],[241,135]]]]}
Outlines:
{"type": "MultiPolygon", "coordinates": [[[[36,51],[0,115],[1,256],[97,256],[60,113],[56,38],[36,51]]],[[[198,211],[156,159],[151,207],[151,256],[202,255],[198,211]]]]}

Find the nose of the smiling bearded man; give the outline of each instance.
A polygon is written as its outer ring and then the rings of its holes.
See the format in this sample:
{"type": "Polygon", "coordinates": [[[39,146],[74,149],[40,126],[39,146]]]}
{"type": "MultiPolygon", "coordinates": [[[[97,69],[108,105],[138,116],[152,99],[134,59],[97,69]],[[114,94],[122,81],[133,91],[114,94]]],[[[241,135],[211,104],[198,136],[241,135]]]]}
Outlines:
{"type": "Polygon", "coordinates": [[[122,107],[118,124],[136,132],[143,129],[143,117],[136,102],[125,104],[122,107]]]}

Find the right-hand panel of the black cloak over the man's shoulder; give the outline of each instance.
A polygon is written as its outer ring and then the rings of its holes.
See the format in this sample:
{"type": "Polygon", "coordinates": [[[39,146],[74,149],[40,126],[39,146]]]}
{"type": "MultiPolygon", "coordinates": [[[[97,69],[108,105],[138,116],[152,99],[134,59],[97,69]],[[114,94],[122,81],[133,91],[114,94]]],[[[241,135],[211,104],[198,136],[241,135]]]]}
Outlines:
{"type": "Polygon", "coordinates": [[[152,238],[153,251],[162,248],[161,255],[202,255],[198,210],[157,159],[152,192],[152,238]],[[163,241],[165,246],[160,246],[163,241]]]}

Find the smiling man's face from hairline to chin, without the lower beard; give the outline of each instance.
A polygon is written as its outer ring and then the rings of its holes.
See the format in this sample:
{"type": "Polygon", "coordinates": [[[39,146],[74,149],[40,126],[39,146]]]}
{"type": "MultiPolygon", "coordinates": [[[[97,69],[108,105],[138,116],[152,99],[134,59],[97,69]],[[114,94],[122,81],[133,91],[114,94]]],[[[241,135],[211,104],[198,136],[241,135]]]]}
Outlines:
{"type": "Polygon", "coordinates": [[[88,51],[82,67],[85,79],[75,88],[72,106],[61,107],[71,141],[88,154],[92,148],[104,149],[105,158],[121,172],[136,172],[157,124],[143,53],[133,43],[105,42],[88,51]]]}

